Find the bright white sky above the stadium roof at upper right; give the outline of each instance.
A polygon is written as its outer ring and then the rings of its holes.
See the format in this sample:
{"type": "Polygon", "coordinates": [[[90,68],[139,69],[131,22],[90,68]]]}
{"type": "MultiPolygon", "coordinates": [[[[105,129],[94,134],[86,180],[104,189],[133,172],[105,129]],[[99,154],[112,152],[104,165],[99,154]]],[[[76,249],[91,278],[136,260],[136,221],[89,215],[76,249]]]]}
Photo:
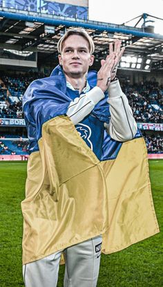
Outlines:
{"type": "MultiPolygon", "coordinates": [[[[163,0],[89,0],[90,20],[122,24],[143,13],[163,18],[163,0]]],[[[163,20],[150,19],[155,23],[148,22],[148,25],[155,26],[155,33],[163,34],[163,20]]],[[[138,20],[139,18],[137,18],[138,20]]],[[[136,20],[134,24],[136,24],[136,20]]],[[[129,23],[128,26],[132,26],[132,23],[129,23]]]]}

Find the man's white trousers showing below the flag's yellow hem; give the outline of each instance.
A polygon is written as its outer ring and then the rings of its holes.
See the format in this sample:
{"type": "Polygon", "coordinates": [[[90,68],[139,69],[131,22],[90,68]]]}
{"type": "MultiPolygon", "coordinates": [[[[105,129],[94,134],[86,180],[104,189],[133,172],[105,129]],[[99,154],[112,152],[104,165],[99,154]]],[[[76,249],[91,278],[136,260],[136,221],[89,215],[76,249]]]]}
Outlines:
{"type": "Polygon", "coordinates": [[[102,236],[98,236],[23,265],[24,284],[26,287],[57,287],[59,261],[64,251],[64,287],[96,287],[101,248],[102,236]]]}

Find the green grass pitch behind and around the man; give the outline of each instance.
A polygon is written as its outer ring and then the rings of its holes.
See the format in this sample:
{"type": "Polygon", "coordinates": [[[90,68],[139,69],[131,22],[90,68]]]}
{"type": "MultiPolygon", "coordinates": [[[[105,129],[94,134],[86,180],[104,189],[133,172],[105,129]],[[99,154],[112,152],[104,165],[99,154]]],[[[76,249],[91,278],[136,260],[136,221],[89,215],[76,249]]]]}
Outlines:
{"type": "MultiPolygon", "coordinates": [[[[157,219],[162,229],[163,160],[151,160],[150,176],[157,219]]],[[[0,286],[23,286],[22,215],[26,162],[0,162],[0,286]]],[[[102,254],[97,287],[163,286],[162,233],[111,255],[102,254]]],[[[57,287],[63,287],[64,266],[57,287]]],[[[47,286],[48,287],[48,286],[47,286]]],[[[79,286],[77,286],[79,287],[79,286]]]]}

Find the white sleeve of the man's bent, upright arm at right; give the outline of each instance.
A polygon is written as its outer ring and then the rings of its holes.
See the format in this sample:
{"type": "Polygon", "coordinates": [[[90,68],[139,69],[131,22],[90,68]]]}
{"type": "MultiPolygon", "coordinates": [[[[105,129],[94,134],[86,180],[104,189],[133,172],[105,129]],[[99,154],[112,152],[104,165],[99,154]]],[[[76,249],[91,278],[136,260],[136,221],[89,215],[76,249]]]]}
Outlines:
{"type": "Polygon", "coordinates": [[[137,132],[137,124],[133,112],[128,104],[126,95],[122,92],[119,80],[108,87],[108,103],[110,104],[111,120],[104,124],[111,138],[125,142],[132,140],[137,132]]]}

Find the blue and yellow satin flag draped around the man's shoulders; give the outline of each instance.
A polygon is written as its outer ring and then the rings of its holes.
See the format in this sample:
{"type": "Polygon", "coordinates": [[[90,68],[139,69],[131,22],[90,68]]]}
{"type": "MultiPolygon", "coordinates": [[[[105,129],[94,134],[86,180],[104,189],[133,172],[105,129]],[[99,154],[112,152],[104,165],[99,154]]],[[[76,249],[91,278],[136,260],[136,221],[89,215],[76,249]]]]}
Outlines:
{"type": "MultiPolygon", "coordinates": [[[[88,82],[95,86],[95,73],[88,82]]],[[[105,133],[97,158],[66,115],[70,100],[59,66],[23,97],[30,138],[23,264],[99,234],[107,254],[159,232],[144,139],[119,143],[105,133]]],[[[108,121],[106,98],[92,113],[108,121]]]]}

